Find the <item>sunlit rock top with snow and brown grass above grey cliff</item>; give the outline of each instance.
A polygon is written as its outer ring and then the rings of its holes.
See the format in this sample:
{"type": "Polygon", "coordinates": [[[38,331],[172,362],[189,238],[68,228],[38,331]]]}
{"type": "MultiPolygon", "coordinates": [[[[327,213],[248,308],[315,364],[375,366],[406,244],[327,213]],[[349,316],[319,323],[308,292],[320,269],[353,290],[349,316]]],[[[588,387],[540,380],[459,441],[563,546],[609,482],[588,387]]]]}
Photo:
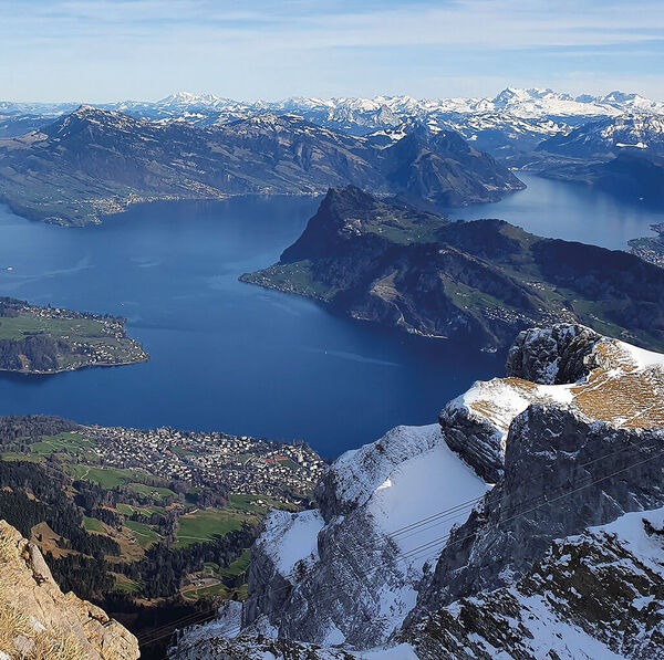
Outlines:
{"type": "Polygon", "coordinates": [[[664,358],[584,326],[523,331],[507,373],[476,383],[439,417],[447,444],[490,482],[502,474],[512,420],[530,406],[557,405],[624,428],[664,423],[664,358]]]}

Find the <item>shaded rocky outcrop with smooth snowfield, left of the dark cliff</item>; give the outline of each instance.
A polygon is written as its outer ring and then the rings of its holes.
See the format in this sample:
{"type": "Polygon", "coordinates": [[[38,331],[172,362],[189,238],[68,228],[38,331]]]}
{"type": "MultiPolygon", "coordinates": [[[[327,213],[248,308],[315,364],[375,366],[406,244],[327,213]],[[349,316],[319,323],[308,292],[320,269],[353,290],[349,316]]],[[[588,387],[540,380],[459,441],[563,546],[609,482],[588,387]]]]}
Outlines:
{"type": "Polygon", "coordinates": [[[415,606],[424,565],[415,551],[463,521],[487,488],[438,425],[397,427],[345,453],[317,491],[324,524],[309,511],[266,520],[245,625],[267,619],[281,636],[312,643],[382,643],[415,606]],[[430,528],[411,527],[458,506],[430,528]]]}

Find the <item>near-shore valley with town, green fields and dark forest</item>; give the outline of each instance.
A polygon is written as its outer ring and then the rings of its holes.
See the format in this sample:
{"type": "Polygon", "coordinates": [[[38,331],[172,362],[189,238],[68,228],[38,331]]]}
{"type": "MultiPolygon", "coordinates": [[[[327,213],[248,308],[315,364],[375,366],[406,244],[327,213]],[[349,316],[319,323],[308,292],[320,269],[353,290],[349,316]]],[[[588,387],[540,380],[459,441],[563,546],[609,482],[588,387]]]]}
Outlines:
{"type": "Polygon", "coordinates": [[[0,419],[3,518],[65,590],[133,612],[142,638],[151,610],[162,627],[243,598],[260,521],[307,504],[323,468],[305,446],[248,437],[0,419]]]}

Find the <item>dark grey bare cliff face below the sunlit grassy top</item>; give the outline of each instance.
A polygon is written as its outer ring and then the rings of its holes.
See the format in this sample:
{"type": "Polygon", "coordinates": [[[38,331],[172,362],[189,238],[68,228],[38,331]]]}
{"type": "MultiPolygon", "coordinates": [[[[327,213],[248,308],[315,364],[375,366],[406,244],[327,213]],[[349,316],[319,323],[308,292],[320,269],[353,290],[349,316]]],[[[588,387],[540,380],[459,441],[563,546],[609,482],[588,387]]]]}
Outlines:
{"type": "Polygon", "coordinates": [[[427,610],[502,587],[556,538],[626,512],[664,505],[664,431],[619,429],[558,406],[531,406],[511,423],[505,476],[454,531],[427,610]]]}

